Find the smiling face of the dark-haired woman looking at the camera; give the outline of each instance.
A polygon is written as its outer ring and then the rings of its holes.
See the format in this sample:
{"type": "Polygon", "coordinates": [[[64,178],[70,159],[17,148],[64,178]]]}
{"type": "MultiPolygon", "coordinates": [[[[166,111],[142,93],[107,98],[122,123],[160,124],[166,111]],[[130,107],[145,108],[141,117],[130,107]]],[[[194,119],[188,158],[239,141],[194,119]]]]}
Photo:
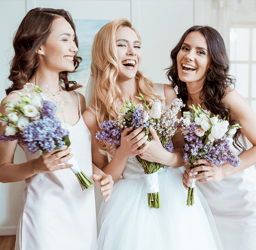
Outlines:
{"type": "Polygon", "coordinates": [[[178,76],[188,89],[198,90],[204,83],[211,59],[206,39],[199,31],[187,35],[177,54],[178,76]]]}

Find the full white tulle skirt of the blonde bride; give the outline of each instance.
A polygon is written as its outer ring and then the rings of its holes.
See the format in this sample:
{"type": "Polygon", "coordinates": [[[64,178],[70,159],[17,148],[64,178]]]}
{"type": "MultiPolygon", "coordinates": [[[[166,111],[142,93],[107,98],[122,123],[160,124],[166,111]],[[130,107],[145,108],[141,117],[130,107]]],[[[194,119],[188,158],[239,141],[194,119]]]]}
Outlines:
{"type": "Polygon", "coordinates": [[[188,207],[182,172],[165,167],[158,173],[162,208],[149,208],[144,174],[114,183],[98,214],[97,250],[222,250],[210,208],[198,188],[188,207]]]}

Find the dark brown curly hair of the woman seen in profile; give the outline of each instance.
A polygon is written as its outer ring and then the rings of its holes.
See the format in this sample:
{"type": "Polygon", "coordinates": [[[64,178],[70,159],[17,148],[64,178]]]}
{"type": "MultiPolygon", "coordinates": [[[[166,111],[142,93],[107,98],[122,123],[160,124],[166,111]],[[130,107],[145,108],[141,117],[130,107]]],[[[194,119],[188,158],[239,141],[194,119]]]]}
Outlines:
{"type": "MultiPolygon", "coordinates": [[[[8,95],[13,90],[21,90],[34,74],[39,64],[37,50],[46,41],[52,23],[56,18],[63,16],[75,32],[75,24],[69,12],[49,8],[35,8],[30,10],[20,23],[13,39],[14,57],[11,61],[9,80],[12,85],[5,90],[8,95]]],[[[78,38],[75,35],[75,43],[78,47],[78,38]]],[[[78,68],[82,58],[74,56],[75,70],[78,68]]],[[[59,73],[59,81],[65,84],[67,91],[81,87],[75,81],[68,80],[68,71],[59,73]],[[72,84],[69,86],[69,84],[72,84]]]]}

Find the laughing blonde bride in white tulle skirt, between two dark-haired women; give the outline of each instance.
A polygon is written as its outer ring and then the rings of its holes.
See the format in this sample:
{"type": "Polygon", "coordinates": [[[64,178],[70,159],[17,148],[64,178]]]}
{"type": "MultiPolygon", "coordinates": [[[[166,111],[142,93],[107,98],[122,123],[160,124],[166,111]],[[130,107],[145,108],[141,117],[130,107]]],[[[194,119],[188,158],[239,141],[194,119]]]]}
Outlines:
{"type": "MultiPolygon", "coordinates": [[[[187,191],[182,186],[182,173],[178,168],[183,164],[180,134],[173,137],[172,153],[162,147],[154,130],[150,130],[153,141],[149,143],[142,128],[126,128],[116,151],[95,138],[99,124],[115,119],[125,98],[139,104],[136,96],[141,93],[147,103],[160,99],[163,105],[169,105],[176,98],[172,87],[154,85],[138,71],[142,60],[140,46],[140,36],[127,19],[103,26],[93,43],[93,81],[87,95],[91,106],[83,118],[92,135],[93,163],[115,181],[112,197],[108,204],[102,202],[99,210],[96,249],[220,250],[210,210],[206,209],[207,218],[200,202],[193,207],[186,206],[187,191]],[[112,157],[110,162],[108,153],[112,157]],[[158,173],[162,208],[148,207],[144,171],[133,160],[136,155],[166,165],[158,173]],[[191,230],[196,234],[189,236],[191,230]]],[[[205,201],[203,205],[207,207],[205,201]]]]}

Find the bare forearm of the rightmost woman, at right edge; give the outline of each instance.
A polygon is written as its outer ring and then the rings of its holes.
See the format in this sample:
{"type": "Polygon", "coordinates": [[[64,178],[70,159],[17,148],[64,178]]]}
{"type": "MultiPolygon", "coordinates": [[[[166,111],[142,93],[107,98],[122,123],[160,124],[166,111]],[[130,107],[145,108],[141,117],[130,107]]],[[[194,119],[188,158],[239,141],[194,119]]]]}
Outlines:
{"type": "Polygon", "coordinates": [[[233,167],[229,163],[222,165],[224,178],[228,177],[229,175],[236,174],[245,168],[256,164],[256,145],[242,153],[239,158],[241,162],[238,167],[233,167]]]}

